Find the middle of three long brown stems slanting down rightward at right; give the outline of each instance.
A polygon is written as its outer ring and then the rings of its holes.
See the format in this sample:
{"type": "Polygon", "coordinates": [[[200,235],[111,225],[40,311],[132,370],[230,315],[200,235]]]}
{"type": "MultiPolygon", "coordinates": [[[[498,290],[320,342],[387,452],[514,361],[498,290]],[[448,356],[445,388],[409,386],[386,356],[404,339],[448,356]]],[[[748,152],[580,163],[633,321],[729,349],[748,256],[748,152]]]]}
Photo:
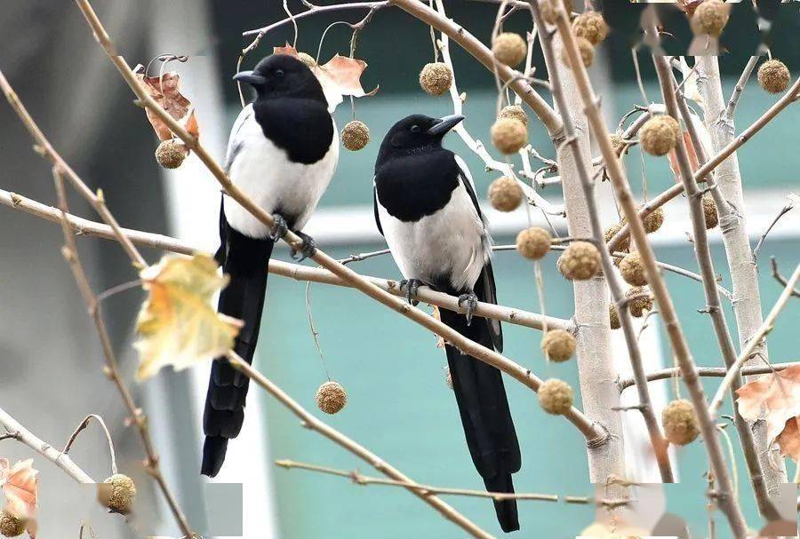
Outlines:
{"type": "MultiPolygon", "coordinates": [[[[572,72],[576,75],[575,79],[578,83],[580,97],[588,116],[589,125],[603,154],[609,178],[611,178],[612,185],[614,186],[614,194],[617,196],[620,207],[625,217],[628,219],[628,226],[633,242],[642,256],[644,272],[652,289],[653,296],[659,305],[659,312],[661,313],[660,318],[667,329],[669,342],[675,354],[676,361],[684,373],[684,383],[689,390],[692,405],[697,410],[700,432],[703,433],[703,438],[706,442],[704,445],[708,452],[708,460],[711,464],[711,469],[714,472],[717,482],[721,484],[720,492],[723,495],[730,496],[732,493],[731,480],[725,464],[722,446],[716,436],[716,426],[711,416],[708,414],[708,408],[706,408],[706,398],[703,394],[700,378],[697,376],[697,367],[692,360],[692,353],[689,350],[686,337],[681,329],[680,321],[677,319],[675,305],[673,305],[664,280],[661,277],[658,267],[655,265],[655,256],[650,242],[647,241],[644,232],[644,223],[638,216],[633,194],[628,185],[628,178],[626,178],[625,172],[622,170],[619,157],[614,152],[608,128],[605,125],[603,115],[600,113],[599,101],[589,82],[586,67],[584,67],[583,61],[580,58],[578,45],[575,36],[572,34],[572,25],[564,12],[563,0],[558,4],[556,25],[559,34],[564,40],[564,47],[569,58],[570,66],[572,67],[572,72]]],[[[704,175],[705,174],[700,176],[702,177],[704,175]]],[[[729,519],[734,535],[737,537],[745,536],[747,533],[747,524],[744,522],[744,518],[741,516],[741,511],[735,503],[735,500],[732,500],[730,497],[720,497],[719,503],[729,519]]]]}

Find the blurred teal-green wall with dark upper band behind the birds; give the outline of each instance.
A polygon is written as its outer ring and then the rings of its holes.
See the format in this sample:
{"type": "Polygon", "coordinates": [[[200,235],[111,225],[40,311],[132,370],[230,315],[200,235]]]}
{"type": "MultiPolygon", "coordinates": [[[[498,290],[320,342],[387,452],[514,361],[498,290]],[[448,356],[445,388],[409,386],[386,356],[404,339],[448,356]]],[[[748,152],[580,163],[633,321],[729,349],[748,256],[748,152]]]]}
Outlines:
{"type": "MultiPolygon", "coordinates": [[[[448,1],[446,4],[452,18],[479,38],[488,40],[495,7],[461,1],[448,1]]],[[[263,5],[249,2],[225,2],[219,5],[216,20],[220,28],[224,28],[220,35],[227,35],[228,31],[257,28],[283,17],[279,5],[268,7],[266,11],[263,5]],[[231,4],[236,4],[240,9],[229,9],[231,4]]],[[[298,49],[314,54],[318,38],[328,24],[339,18],[360,20],[362,15],[362,12],[343,12],[337,16],[321,15],[300,20],[298,49]]],[[[730,43],[731,36],[734,36],[734,41],[738,37],[740,47],[732,45],[731,51],[721,59],[726,77],[726,94],[732,90],[741,67],[752,52],[754,35],[748,34],[750,22],[740,20],[729,28],[726,43],[730,43]]],[[[506,28],[524,32],[529,27],[528,15],[518,12],[508,20],[506,28]]],[[[796,18],[782,19],[776,26],[772,48],[773,54],[784,59],[793,71],[800,67],[796,30],[796,18]]],[[[347,54],[349,35],[347,27],[338,25],[332,28],[324,42],[320,59],[324,61],[335,52],[347,54]]],[[[244,65],[252,65],[261,55],[268,54],[271,46],[284,44],[286,40],[292,40],[291,26],[270,33],[260,48],[245,59],[244,65]]],[[[237,41],[221,43],[220,70],[223,73],[233,73],[240,47],[237,41]]],[[[614,125],[620,115],[634,104],[646,103],[642,102],[636,88],[630,51],[625,40],[620,36],[612,36],[601,45],[600,51],[598,54],[604,55],[602,75],[607,77],[608,83],[603,93],[604,110],[607,117],[612,118],[610,125],[614,125]]],[[[466,125],[473,136],[486,139],[496,106],[492,76],[457,45],[452,46],[452,54],[459,91],[468,94],[466,125]]],[[[377,96],[356,100],[355,116],[370,126],[372,141],[361,152],[343,151],[336,177],[321,202],[322,209],[372,204],[372,163],[380,139],[397,119],[412,113],[446,115],[452,112],[449,95],[432,98],[420,91],[417,83],[420,67],[432,60],[428,29],[404,13],[390,9],[376,13],[360,36],[356,58],[365,59],[370,64],[363,77],[364,88],[369,90],[380,83],[377,96]]],[[[648,97],[659,101],[658,88],[652,83],[652,67],[645,52],[640,53],[640,61],[648,97]]],[[[534,64],[540,66],[540,73],[543,73],[539,53],[534,64]]],[[[229,89],[232,88],[229,86],[229,89]]],[[[239,106],[234,91],[229,91],[227,97],[232,121],[239,106]]],[[[740,103],[737,124],[740,128],[747,126],[775,99],[751,83],[740,103]]],[[[341,126],[353,115],[354,111],[346,101],[337,109],[335,117],[341,126]]],[[[794,158],[798,119],[800,115],[796,109],[788,110],[740,152],[740,165],[748,192],[764,194],[764,189],[774,190],[771,191],[774,193],[771,210],[775,212],[785,203],[783,195],[798,188],[797,163],[795,161],[793,166],[788,166],[794,158]],[[778,159],[779,155],[787,157],[778,159]]],[[[542,155],[555,155],[546,132],[535,121],[530,132],[533,146],[542,155]]],[[[456,136],[451,136],[447,145],[467,159],[477,191],[483,196],[496,174],[485,173],[483,163],[469,153],[456,136]]],[[[665,159],[647,157],[643,162],[638,148],[630,152],[626,162],[630,181],[639,195],[642,194],[644,176],[650,194],[662,191],[675,181],[665,159]]],[[[561,196],[560,187],[549,186],[544,194],[557,201],[561,196]]],[[[673,203],[685,202],[679,199],[673,203]]],[[[655,237],[658,235],[655,234],[655,237]]],[[[716,239],[713,243],[716,271],[723,273],[723,284],[730,288],[719,233],[715,231],[711,235],[716,239]]],[[[498,243],[513,241],[512,237],[495,239],[498,243]]],[[[359,244],[336,247],[328,252],[344,258],[354,252],[383,247],[378,243],[359,244]]],[[[772,305],[780,292],[766,265],[766,258],[771,254],[778,256],[781,265],[788,271],[800,262],[800,242],[795,237],[766,243],[759,260],[763,267],[760,278],[765,309],[772,305]]],[[[688,242],[660,244],[657,255],[664,262],[697,271],[697,263],[688,242]]],[[[555,257],[551,255],[543,264],[548,313],[569,317],[572,315],[572,287],[556,272],[554,262],[555,257]]],[[[354,267],[362,273],[390,278],[398,276],[396,266],[389,257],[373,258],[354,267]]],[[[500,253],[495,263],[495,273],[499,282],[500,303],[539,311],[530,264],[513,252],[500,253]]],[[[666,277],[682,315],[694,357],[700,365],[721,365],[708,316],[697,312],[704,306],[700,283],[672,273],[666,273],[666,277]]],[[[314,408],[314,393],[316,387],[325,380],[325,369],[308,329],[305,292],[306,283],[275,276],[270,278],[258,366],[299,399],[303,406],[314,408]]],[[[338,416],[325,419],[416,480],[433,485],[482,488],[468,457],[452,392],[444,384],[444,353],[436,348],[435,338],[396,313],[348,289],[313,285],[311,297],[327,368],[331,377],[348,390],[348,407],[338,416]]],[[[728,321],[732,322],[731,305],[726,303],[724,308],[728,321]]],[[[793,302],[770,338],[772,361],[800,359],[796,357],[798,321],[800,305],[793,302]]],[[[561,377],[577,386],[574,361],[547,365],[540,353],[540,336],[537,332],[508,324],[505,331],[508,357],[531,368],[540,377],[561,377]]],[[[732,335],[735,339],[733,326],[732,335]]],[[[661,342],[666,343],[666,338],[662,338],[661,342]]],[[[656,353],[652,350],[644,352],[656,353]]],[[[663,357],[669,358],[666,345],[660,352],[663,357]]],[[[668,360],[666,362],[669,363],[668,360]]],[[[713,392],[717,383],[717,379],[707,381],[708,391],[713,392]]],[[[520,384],[507,379],[506,386],[523,448],[523,468],[515,476],[517,491],[591,495],[591,487],[587,484],[584,444],[579,433],[564,420],[541,412],[535,396],[520,384]]],[[[671,384],[667,391],[671,394],[671,384]]],[[[259,394],[259,398],[264,397],[259,394]]],[[[269,444],[274,458],[288,458],[344,470],[359,468],[366,474],[372,473],[329,441],[300,428],[295,418],[274,401],[266,400],[266,404],[269,444]]],[[[577,404],[580,406],[580,402],[577,404]]],[[[728,431],[736,443],[735,431],[732,428],[728,431]]],[[[707,464],[701,443],[679,450],[678,461],[682,482],[669,489],[668,511],[682,515],[691,523],[696,536],[701,536],[708,526],[704,497],[707,484],[702,477],[707,464]]],[[[746,468],[740,459],[737,469],[741,502],[746,507],[748,520],[756,526],[759,520],[748,491],[746,468]]],[[[398,539],[461,536],[452,524],[402,489],[358,487],[340,478],[282,469],[275,470],[273,477],[276,481],[280,526],[286,539],[323,536],[398,539]]],[[[489,501],[474,498],[449,498],[448,501],[491,533],[500,533],[489,501]]],[[[718,515],[717,519],[720,521],[718,536],[725,536],[726,527],[721,521],[722,517],[718,515]]],[[[564,503],[521,502],[520,520],[523,527],[519,534],[521,536],[571,537],[594,521],[594,509],[564,503]]]]}

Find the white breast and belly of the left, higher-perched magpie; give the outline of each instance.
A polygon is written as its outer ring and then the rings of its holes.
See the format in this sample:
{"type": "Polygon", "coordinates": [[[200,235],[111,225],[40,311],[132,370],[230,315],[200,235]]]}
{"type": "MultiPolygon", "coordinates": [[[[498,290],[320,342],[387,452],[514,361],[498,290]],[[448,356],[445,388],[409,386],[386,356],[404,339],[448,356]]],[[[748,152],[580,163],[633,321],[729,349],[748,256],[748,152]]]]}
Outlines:
{"type": "MultiPolygon", "coordinates": [[[[243,115],[246,112],[245,109],[243,115]]],[[[236,122],[231,133],[228,153],[236,145],[240,147],[228,163],[228,177],[264,210],[270,213],[282,210],[296,215],[294,228],[302,229],[331,182],[339,161],[336,124],[328,152],[317,162],[303,164],[290,161],[283,149],[264,136],[252,112],[241,120],[236,122]]],[[[223,200],[225,217],[237,231],[253,238],[268,235],[268,227],[253,218],[249,211],[228,197],[223,200]]]]}

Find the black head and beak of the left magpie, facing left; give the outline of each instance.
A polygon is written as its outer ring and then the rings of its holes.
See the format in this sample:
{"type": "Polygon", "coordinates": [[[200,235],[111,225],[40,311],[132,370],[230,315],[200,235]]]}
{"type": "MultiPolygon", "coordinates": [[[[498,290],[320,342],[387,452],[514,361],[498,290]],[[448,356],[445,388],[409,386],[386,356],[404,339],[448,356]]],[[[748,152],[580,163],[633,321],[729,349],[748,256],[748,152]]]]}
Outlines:
{"type": "Polygon", "coordinates": [[[328,106],[322,85],[311,70],[288,54],[273,54],[262,59],[252,71],[234,75],[234,80],[255,88],[258,99],[314,99],[328,106]]]}

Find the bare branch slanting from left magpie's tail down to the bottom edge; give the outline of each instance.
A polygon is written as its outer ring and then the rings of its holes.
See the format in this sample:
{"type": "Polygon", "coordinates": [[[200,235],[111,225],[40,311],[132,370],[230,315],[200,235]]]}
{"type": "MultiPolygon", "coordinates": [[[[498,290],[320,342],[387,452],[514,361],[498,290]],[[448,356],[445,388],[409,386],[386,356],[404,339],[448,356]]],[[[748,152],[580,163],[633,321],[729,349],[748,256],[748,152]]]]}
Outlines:
{"type": "MultiPolygon", "coordinates": [[[[227,358],[230,362],[230,365],[234,369],[244,374],[244,376],[250,378],[255,384],[259,385],[262,389],[275,397],[278,402],[280,402],[285,408],[291,411],[292,414],[300,419],[300,422],[303,426],[314,432],[322,434],[325,438],[331,440],[341,448],[347,449],[350,453],[357,456],[365,463],[370,464],[375,470],[383,473],[387,477],[393,480],[404,481],[406,483],[416,485],[411,478],[406,476],[403,472],[397,470],[391,464],[388,464],[388,462],[380,458],[380,456],[375,455],[372,453],[372,451],[364,448],[364,446],[358,444],[355,440],[351,440],[341,432],[332,428],[330,425],[320,421],[315,416],[312,416],[308,410],[301,407],[296,400],[293,400],[292,397],[284,392],[284,390],[262,375],[259,371],[253,369],[252,366],[239,357],[238,354],[233,351],[228,352],[227,358]]],[[[492,537],[492,535],[489,535],[483,529],[476,526],[475,523],[467,519],[467,517],[462,515],[459,511],[453,509],[447,503],[444,503],[436,495],[431,495],[425,489],[420,487],[406,488],[413,495],[419,497],[420,500],[428,503],[428,505],[436,509],[436,511],[439,511],[439,513],[442,514],[445,519],[450,520],[453,524],[463,529],[469,535],[484,539],[492,537]]]]}

